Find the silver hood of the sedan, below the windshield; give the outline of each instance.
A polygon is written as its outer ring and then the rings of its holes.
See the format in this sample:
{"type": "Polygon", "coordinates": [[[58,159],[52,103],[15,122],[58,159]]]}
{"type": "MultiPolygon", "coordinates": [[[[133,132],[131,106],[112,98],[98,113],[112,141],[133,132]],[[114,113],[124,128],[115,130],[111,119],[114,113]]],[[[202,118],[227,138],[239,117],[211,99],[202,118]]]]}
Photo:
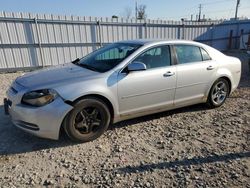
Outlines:
{"type": "Polygon", "coordinates": [[[27,88],[41,88],[60,85],[65,82],[87,80],[96,75],[100,75],[100,73],[74,65],[73,63],[67,63],[27,73],[18,77],[16,82],[27,88]]]}

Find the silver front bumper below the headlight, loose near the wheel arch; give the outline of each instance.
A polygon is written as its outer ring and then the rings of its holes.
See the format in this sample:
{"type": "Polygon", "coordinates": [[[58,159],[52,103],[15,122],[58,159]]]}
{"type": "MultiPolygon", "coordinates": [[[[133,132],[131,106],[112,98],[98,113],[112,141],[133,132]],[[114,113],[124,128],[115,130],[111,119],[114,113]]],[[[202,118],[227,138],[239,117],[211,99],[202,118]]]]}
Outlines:
{"type": "Polygon", "coordinates": [[[32,107],[21,103],[10,105],[6,101],[11,102],[11,99],[4,101],[6,112],[9,113],[15,126],[38,137],[54,140],[59,138],[63,119],[73,108],[60,97],[42,107],[32,107]]]}

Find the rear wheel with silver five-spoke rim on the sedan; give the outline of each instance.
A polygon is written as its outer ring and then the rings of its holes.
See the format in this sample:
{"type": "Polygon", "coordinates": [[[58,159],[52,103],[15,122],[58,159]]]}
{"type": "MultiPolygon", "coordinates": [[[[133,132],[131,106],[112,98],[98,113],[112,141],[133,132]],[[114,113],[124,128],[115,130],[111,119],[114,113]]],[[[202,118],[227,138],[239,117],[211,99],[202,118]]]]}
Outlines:
{"type": "Polygon", "coordinates": [[[219,78],[213,84],[210,89],[207,105],[211,108],[216,108],[221,106],[228,97],[229,91],[229,83],[224,78],[219,78]]]}

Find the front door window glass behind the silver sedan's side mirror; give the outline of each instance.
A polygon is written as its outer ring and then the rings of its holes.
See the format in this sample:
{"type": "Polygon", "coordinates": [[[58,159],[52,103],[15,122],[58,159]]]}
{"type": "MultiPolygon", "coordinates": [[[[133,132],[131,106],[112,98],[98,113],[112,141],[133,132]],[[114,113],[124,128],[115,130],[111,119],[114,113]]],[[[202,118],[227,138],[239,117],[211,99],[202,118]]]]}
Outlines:
{"type": "Polygon", "coordinates": [[[147,69],[170,66],[171,56],[169,46],[151,48],[138,56],[134,61],[144,63],[147,69]]]}

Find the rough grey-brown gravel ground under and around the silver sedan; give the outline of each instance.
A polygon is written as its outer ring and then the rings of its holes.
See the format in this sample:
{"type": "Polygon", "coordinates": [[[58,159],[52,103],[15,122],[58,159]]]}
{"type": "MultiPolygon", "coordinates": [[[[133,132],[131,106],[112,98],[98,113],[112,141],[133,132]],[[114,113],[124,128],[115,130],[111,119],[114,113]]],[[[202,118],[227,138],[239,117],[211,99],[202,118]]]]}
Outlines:
{"type": "Polygon", "coordinates": [[[0,187],[250,187],[249,73],[220,108],[124,121],[84,144],[12,125],[2,99],[20,74],[0,74],[0,187]]]}

